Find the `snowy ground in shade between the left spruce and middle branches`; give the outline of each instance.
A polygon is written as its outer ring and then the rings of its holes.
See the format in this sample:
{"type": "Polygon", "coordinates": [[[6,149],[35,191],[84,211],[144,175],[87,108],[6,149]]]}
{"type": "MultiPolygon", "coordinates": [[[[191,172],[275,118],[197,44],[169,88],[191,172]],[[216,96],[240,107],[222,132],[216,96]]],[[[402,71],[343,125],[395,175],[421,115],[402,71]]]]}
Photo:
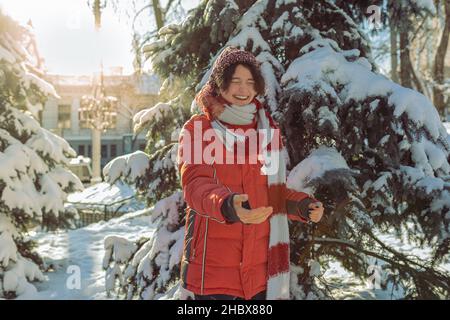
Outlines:
{"type": "Polygon", "coordinates": [[[154,227],[149,212],[149,209],[145,209],[81,229],[32,235],[38,243],[37,251],[47,265],[54,265],[55,270],[46,273],[47,282],[34,283],[38,289],[36,295],[22,298],[107,299],[105,272],[102,269],[103,240],[109,235],[123,236],[129,240],[151,236],[154,227]],[[79,289],[70,289],[66,283],[78,267],[81,286],[79,289]]]}

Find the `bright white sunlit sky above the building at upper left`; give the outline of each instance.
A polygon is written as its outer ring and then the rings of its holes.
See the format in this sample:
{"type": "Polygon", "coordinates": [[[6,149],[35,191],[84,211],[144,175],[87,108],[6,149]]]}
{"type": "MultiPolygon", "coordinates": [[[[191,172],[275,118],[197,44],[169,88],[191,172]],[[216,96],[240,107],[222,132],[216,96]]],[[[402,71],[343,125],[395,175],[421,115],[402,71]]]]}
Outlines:
{"type": "Polygon", "coordinates": [[[122,66],[124,73],[133,71],[131,28],[119,21],[111,6],[102,13],[99,33],[86,0],[0,0],[0,8],[20,23],[32,20],[50,73],[90,75],[102,60],[105,71],[114,66],[122,66]]]}

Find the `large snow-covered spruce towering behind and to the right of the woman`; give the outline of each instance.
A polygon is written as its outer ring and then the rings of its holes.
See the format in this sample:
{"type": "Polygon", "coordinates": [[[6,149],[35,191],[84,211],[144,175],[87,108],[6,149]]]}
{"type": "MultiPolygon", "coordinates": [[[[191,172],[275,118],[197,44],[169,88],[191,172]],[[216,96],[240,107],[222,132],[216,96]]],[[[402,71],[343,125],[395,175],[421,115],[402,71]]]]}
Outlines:
{"type": "Polygon", "coordinates": [[[291,224],[291,298],[331,297],[320,277],[331,259],[361,279],[380,267],[381,286],[402,297],[448,297],[439,263],[448,259],[450,149],[433,105],[378,75],[365,37],[328,0],[203,1],[145,50],[162,77],[193,79],[193,96],[228,45],[262,62],[288,185],[326,206],[318,227],[291,224]],[[430,248],[428,257],[401,252],[386,233],[430,248]]]}

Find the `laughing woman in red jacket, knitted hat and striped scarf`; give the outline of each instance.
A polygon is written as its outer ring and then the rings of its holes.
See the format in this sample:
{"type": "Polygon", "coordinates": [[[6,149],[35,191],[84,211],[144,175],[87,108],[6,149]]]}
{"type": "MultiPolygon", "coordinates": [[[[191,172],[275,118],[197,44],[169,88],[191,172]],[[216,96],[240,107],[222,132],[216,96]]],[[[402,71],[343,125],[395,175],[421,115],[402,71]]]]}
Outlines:
{"type": "Polygon", "coordinates": [[[196,96],[203,114],[180,134],[188,205],[181,281],[195,299],[288,299],[288,218],[323,215],[322,203],[286,187],[279,129],[256,99],[264,90],[255,56],[227,47],[196,96]]]}

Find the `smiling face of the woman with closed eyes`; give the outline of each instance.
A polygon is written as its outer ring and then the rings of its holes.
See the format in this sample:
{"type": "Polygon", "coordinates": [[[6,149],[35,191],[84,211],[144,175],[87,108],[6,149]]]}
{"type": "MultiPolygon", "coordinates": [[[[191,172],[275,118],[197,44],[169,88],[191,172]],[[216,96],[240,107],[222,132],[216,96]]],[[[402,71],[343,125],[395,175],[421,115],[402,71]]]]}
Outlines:
{"type": "Polygon", "coordinates": [[[228,88],[220,89],[223,98],[238,106],[252,102],[256,93],[255,79],[253,79],[252,73],[241,64],[236,66],[228,88]]]}

